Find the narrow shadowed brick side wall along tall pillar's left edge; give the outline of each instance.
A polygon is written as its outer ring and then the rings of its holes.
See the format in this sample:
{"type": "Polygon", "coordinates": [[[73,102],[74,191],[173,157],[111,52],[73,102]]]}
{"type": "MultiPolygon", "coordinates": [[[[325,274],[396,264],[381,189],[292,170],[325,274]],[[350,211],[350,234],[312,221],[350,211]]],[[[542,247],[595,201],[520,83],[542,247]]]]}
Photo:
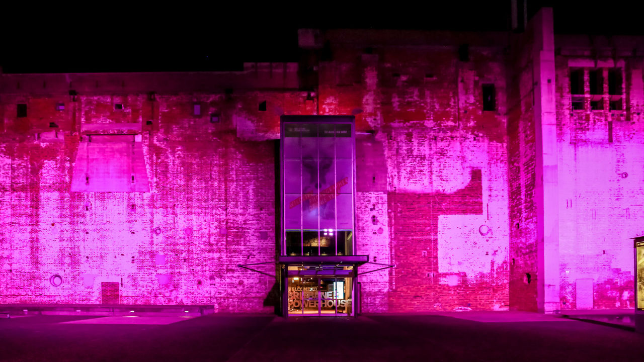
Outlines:
{"type": "Polygon", "coordinates": [[[535,166],[532,28],[516,39],[507,92],[507,167],[509,195],[509,303],[513,310],[537,310],[535,166]],[[529,277],[529,279],[528,279],[529,277]]]}

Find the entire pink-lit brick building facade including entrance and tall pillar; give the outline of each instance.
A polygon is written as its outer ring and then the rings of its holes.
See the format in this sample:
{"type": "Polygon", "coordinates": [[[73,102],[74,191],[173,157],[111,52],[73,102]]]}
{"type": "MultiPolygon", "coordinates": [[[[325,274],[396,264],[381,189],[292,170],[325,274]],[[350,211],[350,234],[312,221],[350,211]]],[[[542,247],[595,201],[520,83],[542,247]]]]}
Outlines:
{"type": "Polygon", "coordinates": [[[243,71],[0,74],[0,303],[633,307],[644,37],[555,35],[544,8],[522,33],[299,46],[243,71]]]}

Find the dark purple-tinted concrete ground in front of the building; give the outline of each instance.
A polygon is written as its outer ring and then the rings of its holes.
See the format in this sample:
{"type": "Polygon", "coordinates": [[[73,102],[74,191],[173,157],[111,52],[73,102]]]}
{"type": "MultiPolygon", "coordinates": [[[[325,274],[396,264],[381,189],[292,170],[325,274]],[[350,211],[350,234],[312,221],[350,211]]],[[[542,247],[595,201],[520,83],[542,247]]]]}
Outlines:
{"type": "Polygon", "coordinates": [[[0,361],[643,361],[644,335],[543,314],[0,319],[0,361]]]}

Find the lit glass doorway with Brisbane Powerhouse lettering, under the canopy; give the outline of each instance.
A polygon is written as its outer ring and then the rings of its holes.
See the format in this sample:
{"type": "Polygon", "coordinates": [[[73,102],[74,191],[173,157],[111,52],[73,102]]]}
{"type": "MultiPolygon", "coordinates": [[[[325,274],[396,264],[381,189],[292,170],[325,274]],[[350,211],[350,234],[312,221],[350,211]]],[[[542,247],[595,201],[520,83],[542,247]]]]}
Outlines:
{"type": "Polygon", "coordinates": [[[352,301],[352,278],[289,278],[289,316],[351,316],[352,301]]]}

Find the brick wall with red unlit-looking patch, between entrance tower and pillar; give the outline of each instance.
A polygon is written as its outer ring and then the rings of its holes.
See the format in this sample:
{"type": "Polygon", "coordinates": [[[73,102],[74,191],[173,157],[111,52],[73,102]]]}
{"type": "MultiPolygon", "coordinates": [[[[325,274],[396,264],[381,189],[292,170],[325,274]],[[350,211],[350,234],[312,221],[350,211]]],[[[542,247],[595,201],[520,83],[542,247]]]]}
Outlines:
{"type": "Polygon", "coordinates": [[[508,309],[502,49],[333,52],[320,113],[374,131],[357,137],[357,252],[395,265],[361,276],[363,312],[508,309]],[[485,83],[496,111],[482,111],[485,83]]]}

